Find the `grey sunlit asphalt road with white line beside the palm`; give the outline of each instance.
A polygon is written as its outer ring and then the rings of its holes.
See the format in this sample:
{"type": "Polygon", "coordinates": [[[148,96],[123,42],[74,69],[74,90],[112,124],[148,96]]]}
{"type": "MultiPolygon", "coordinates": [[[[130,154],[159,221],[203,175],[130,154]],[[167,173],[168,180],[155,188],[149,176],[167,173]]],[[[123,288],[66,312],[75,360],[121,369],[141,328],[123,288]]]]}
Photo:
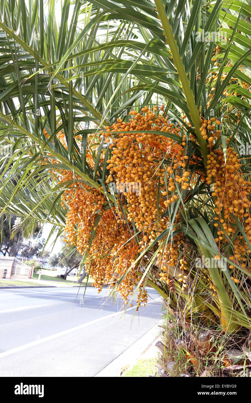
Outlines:
{"type": "Polygon", "coordinates": [[[106,290],[0,289],[0,376],[85,376],[105,368],[161,317],[159,295],[135,314],[106,290]],[[135,316],[133,317],[133,315],[135,316]]]}

